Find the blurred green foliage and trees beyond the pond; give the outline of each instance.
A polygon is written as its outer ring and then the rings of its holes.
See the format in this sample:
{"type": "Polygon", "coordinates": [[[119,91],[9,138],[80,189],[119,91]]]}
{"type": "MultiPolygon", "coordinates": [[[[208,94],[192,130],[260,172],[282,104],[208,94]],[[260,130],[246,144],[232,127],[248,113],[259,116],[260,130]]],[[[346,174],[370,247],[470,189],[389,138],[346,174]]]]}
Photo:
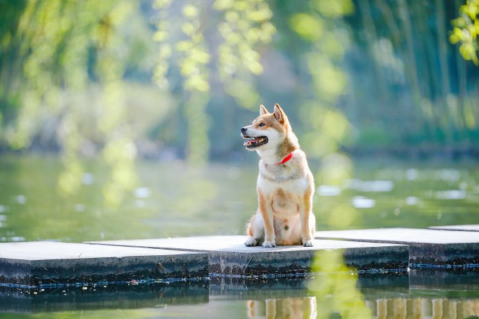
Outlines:
{"type": "Polygon", "coordinates": [[[138,154],[241,157],[260,103],[283,105],[311,157],[477,152],[476,0],[0,6],[0,149],[60,151],[67,192],[79,155],[126,188],[138,154]]]}

